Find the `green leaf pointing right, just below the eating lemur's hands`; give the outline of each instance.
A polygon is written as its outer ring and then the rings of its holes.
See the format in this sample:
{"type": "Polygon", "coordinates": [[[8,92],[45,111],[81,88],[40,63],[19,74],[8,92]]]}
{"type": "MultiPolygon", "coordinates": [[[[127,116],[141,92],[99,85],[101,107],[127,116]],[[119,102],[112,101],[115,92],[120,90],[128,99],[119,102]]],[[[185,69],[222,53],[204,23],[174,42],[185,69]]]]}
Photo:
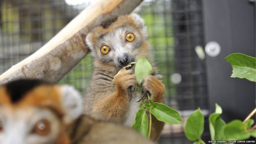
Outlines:
{"type": "Polygon", "coordinates": [[[150,112],[159,121],[173,124],[182,124],[181,114],[162,103],[154,103],[154,107],[150,109],[150,112]]]}

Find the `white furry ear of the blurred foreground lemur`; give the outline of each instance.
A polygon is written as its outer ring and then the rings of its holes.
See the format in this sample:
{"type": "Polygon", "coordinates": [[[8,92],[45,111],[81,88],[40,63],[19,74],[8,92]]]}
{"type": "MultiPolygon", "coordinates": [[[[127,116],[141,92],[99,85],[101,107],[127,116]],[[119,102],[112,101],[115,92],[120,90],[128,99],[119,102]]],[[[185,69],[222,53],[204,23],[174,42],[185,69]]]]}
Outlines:
{"type": "Polygon", "coordinates": [[[64,109],[64,123],[69,124],[82,114],[82,97],[70,85],[61,86],[62,107],[64,109]]]}

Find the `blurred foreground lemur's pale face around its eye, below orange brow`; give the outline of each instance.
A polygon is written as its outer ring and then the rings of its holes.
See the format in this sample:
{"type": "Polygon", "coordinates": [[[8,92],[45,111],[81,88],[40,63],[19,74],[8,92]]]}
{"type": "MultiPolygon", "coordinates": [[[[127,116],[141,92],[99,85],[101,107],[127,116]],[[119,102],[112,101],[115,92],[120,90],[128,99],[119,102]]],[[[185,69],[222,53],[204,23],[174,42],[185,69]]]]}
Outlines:
{"type": "Polygon", "coordinates": [[[36,107],[0,107],[0,144],[53,144],[60,134],[56,114],[36,107]]]}

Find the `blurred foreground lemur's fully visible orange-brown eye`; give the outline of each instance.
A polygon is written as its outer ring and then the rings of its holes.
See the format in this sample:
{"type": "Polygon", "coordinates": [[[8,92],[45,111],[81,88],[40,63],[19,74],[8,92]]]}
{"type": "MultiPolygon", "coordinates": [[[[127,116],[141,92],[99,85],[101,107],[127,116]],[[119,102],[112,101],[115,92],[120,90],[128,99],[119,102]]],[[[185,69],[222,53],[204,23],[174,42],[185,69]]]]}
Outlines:
{"type": "Polygon", "coordinates": [[[48,135],[50,133],[50,123],[46,120],[39,121],[33,130],[38,135],[48,135]]]}

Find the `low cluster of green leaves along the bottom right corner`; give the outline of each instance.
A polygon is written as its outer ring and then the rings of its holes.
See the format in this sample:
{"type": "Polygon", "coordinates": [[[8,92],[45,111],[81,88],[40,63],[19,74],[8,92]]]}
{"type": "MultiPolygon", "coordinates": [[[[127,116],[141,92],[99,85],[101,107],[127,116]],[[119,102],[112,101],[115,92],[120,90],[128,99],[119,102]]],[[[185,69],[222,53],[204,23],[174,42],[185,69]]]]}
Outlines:
{"type": "MultiPolygon", "coordinates": [[[[222,108],[217,103],[215,104],[215,107],[215,112],[210,114],[209,117],[210,135],[212,140],[245,140],[249,137],[256,137],[256,126],[252,126],[254,124],[253,119],[248,119],[245,122],[236,119],[226,124],[220,117],[222,108]]],[[[203,120],[204,117],[199,108],[190,114],[187,119],[185,135],[187,139],[191,141],[198,140],[197,142],[194,142],[194,144],[204,144],[201,140],[204,126],[203,120]]]]}

